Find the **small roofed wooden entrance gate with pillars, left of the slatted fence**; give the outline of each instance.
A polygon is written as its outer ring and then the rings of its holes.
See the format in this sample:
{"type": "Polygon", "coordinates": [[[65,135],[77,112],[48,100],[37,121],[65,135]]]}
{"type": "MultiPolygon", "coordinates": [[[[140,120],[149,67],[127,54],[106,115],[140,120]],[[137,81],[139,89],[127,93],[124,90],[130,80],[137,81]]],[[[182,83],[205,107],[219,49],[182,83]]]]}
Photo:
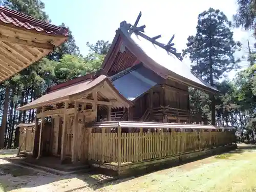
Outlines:
{"type": "Polygon", "coordinates": [[[84,157],[81,156],[87,150],[84,145],[88,145],[85,140],[87,132],[79,124],[97,121],[98,111],[110,114],[111,108],[129,108],[131,104],[117,92],[108,77],[88,75],[81,82],[54,90],[18,110],[37,109],[34,156],[39,158],[42,151],[48,151],[45,148],[48,145],[44,143],[49,139],[52,155],[59,156],[61,160],[70,157],[72,162],[76,162],[84,157]],[[51,117],[50,129],[46,129],[46,117],[51,117]]]}

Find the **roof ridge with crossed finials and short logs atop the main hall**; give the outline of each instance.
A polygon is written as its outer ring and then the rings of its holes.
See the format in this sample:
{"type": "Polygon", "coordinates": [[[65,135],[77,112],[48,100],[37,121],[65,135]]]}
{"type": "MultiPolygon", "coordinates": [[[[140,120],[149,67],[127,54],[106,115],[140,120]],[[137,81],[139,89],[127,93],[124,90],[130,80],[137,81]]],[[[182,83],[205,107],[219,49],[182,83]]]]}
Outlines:
{"type": "Polygon", "coordinates": [[[177,53],[177,50],[173,47],[175,44],[172,43],[172,41],[173,41],[175,35],[173,35],[172,38],[170,38],[170,40],[168,41],[167,45],[164,45],[161,42],[156,41],[156,39],[160,38],[161,35],[157,35],[157,36],[154,36],[154,37],[149,37],[149,36],[145,35],[144,34],[144,29],[145,29],[146,26],[143,25],[143,26],[137,27],[141,15],[142,14],[141,14],[141,11],[140,11],[140,13],[139,13],[139,15],[138,15],[134,25],[127,24],[126,21],[123,21],[123,22],[120,23],[120,27],[126,27],[129,33],[133,33],[134,32],[137,35],[139,35],[139,36],[141,36],[141,37],[151,41],[153,44],[156,44],[159,47],[165,49],[169,53],[174,54],[179,60],[183,60],[183,58],[181,56],[181,53],[177,53]]]}

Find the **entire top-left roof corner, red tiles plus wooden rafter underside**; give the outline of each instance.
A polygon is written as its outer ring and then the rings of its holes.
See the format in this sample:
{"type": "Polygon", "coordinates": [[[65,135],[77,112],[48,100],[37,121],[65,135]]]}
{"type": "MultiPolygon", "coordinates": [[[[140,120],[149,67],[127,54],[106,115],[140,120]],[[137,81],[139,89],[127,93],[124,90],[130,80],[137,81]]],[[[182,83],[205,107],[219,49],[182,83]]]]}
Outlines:
{"type": "Polygon", "coordinates": [[[0,7],[0,83],[63,44],[68,33],[67,28],[0,7]]]}

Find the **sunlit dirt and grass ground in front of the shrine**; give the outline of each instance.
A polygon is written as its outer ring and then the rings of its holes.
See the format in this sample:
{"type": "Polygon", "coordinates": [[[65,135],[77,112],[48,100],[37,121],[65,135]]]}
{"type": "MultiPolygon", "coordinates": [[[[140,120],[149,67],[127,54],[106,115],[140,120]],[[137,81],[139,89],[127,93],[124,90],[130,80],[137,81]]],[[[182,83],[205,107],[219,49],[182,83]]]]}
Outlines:
{"type": "MultiPolygon", "coordinates": [[[[102,175],[58,176],[9,163],[0,150],[0,191],[202,191],[256,192],[256,146],[209,157],[141,177],[115,180],[102,175]],[[2,155],[1,155],[2,154],[2,155]]],[[[14,153],[14,152],[11,152],[14,153]]],[[[1,192],[2,192],[1,191],[1,192]]]]}

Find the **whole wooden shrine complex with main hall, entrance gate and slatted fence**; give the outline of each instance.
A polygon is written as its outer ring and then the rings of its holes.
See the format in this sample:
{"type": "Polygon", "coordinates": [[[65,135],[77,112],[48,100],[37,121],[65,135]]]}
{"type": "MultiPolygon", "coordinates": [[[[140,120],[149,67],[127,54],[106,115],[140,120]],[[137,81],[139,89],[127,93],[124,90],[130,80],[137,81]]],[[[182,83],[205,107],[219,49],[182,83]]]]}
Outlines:
{"type": "Polygon", "coordinates": [[[160,35],[146,36],[145,26],[137,27],[140,16],[133,26],[120,24],[98,73],[58,84],[18,108],[36,109],[34,133],[21,125],[23,151],[120,171],[138,162],[233,146],[233,127],[189,124],[188,87],[218,90],[182,62],[174,36],[166,45],[157,41],[160,35]]]}

